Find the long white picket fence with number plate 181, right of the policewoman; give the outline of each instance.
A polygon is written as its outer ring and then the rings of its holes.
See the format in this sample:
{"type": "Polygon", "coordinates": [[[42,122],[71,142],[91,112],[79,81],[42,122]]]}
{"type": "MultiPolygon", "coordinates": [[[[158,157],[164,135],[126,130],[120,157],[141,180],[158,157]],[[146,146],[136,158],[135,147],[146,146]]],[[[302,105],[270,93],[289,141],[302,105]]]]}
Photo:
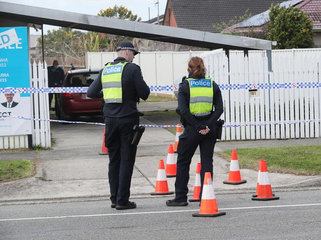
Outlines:
{"type": "MultiPolygon", "coordinates": [[[[209,75],[218,84],[320,82],[321,49],[272,51],[272,72],[264,51],[230,51],[230,64],[222,49],[201,55],[209,75]],[[228,69],[230,67],[230,70],[228,69]]],[[[321,88],[222,90],[226,125],[222,140],[308,138],[321,136],[321,88]]]]}

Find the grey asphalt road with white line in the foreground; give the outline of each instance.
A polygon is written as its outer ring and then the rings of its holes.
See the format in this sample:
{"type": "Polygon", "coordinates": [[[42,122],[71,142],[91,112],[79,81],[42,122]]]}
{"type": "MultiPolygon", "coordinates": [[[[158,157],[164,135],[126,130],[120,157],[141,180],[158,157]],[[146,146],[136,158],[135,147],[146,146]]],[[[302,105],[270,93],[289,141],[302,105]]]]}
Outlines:
{"type": "Polygon", "coordinates": [[[0,206],[1,240],[216,239],[320,240],[321,191],[276,192],[280,200],[249,194],[216,195],[225,216],[196,218],[198,203],[167,207],[171,197],[135,199],[118,211],[110,201],[0,206]]]}

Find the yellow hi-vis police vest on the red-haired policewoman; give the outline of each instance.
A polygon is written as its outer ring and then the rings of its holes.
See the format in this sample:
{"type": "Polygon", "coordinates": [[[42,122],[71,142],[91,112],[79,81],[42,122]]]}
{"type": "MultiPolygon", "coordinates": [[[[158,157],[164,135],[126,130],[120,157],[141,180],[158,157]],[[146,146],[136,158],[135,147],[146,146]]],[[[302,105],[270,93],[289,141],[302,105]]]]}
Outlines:
{"type": "Polygon", "coordinates": [[[190,85],[190,112],[198,117],[211,114],[213,110],[213,82],[211,78],[188,78],[190,85]]]}

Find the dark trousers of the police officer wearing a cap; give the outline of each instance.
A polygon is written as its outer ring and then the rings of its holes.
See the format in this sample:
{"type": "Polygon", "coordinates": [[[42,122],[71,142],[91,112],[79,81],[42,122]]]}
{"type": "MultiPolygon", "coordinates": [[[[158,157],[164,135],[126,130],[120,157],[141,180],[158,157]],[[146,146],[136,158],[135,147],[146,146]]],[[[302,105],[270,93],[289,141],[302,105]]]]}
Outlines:
{"type": "Polygon", "coordinates": [[[136,113],[120,118],[105,118],[110,200],[120,206],[126,205],[130,196],[131,175],[137,151],[137,146],[131,145],[134,125],[139,125],[139,116],[136,113]]]}

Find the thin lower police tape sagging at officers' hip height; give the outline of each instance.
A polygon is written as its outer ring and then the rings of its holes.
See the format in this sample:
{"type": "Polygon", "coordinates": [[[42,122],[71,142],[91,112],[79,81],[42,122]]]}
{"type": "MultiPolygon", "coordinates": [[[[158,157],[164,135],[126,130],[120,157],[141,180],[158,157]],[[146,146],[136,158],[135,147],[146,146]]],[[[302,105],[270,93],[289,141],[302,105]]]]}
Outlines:
{"type": "MultiPolygon", "coordinates": [[[[31,121],[46,121],[46,122],[58,122],[58,123],[69,123],[69,124],[93,124],[105,126],[104,123],[88,123],[88,122],[77,122],[77,121],[64,121],[64,120],[55,120],[55,119],[42,119],[42,118],[27,118],[23,116],[10,116],[6,114],[1,114],[0,117],[9,117],[23,120],[31,121]]],[[[238,128],[238,127],[254,127],[254,126],[267,126],[267,125],[291,125],[298,123],[319,123],[321,119],[310,119],[310,120],[294,120],[294,121],[268,121],[268,122],[258,122],[258,123],[226,123],[223,125],[224,128],[238,128]]],[[[181,127],[181,125],[140,125],[144,127],[154,127],[154,128],[168,128],[168,127],[181,127]]]]}

